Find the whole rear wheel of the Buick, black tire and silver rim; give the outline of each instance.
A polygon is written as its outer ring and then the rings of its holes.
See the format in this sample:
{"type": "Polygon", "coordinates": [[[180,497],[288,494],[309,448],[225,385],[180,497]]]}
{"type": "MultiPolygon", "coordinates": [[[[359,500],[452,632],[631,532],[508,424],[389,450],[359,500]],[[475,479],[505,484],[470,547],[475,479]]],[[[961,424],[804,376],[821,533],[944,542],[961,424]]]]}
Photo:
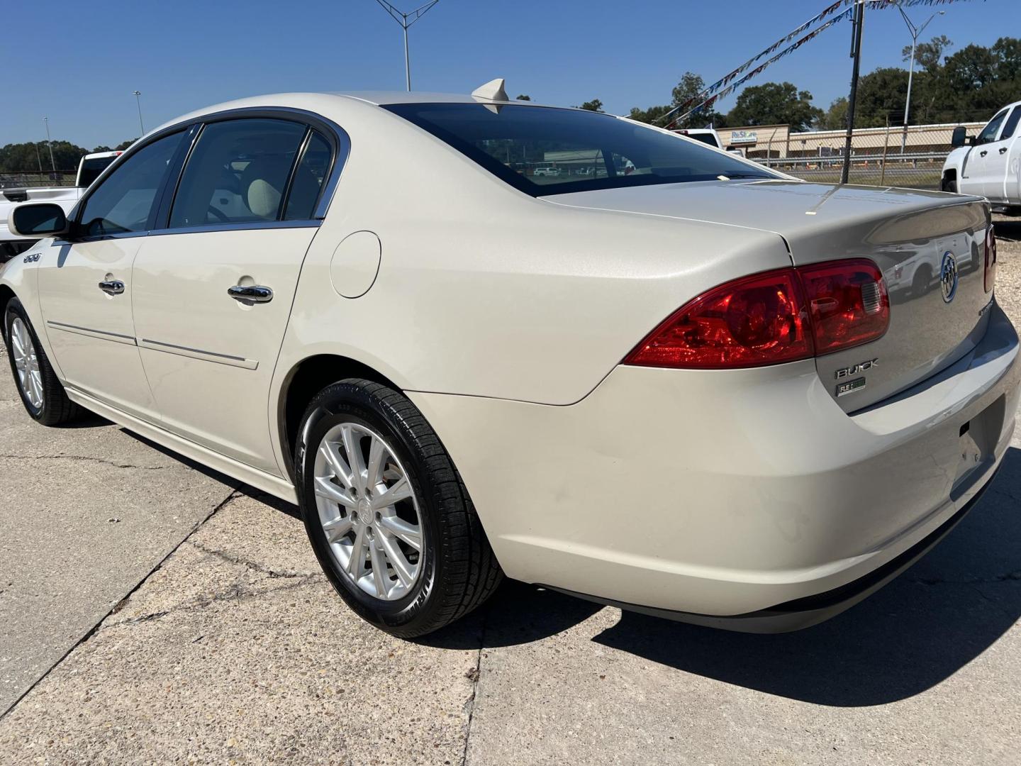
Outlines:
{"type": "Polygon", "coordinates": [[[295,450],[305,529],[347,605],[400,637],[482,604],[502,577],[450,456],[422,413],[379,383],[321,391],[295,450]]]}

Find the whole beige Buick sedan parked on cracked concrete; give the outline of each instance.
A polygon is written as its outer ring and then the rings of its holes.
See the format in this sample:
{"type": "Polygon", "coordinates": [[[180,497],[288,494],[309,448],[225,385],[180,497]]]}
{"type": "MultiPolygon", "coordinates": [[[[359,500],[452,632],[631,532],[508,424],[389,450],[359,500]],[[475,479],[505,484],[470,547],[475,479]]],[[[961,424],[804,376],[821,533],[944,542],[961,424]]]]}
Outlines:
{"type": "Polygon", "coordinates": [[[972,508],[1018,409],[981,198],[805,183],[497,87],[222,104],[9,225],[42,238],[0,271],[29,415],[297,502],[401,636],[504,573],[819,622],[972,508]]]}

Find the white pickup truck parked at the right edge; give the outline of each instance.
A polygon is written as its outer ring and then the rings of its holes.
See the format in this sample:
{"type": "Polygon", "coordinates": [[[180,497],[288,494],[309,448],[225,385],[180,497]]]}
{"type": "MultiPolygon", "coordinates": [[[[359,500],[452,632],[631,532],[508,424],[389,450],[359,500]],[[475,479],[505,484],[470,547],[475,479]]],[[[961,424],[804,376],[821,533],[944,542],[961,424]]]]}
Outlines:
{"type": "Polygon", "coordinates": [[[999,212],[1021,216],[1021,101],[996,112],[977,137],[954,129],[957,147],[943,163],[943,191],[977,194],[999,212]]]}

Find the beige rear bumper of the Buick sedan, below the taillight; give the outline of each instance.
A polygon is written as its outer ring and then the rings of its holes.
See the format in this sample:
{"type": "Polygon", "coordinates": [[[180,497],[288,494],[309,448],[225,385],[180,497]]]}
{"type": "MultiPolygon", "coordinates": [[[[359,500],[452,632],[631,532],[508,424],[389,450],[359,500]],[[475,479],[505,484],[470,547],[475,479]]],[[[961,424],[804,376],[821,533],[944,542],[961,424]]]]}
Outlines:
{"type": "Polygon", "coordinates": [[[970,508],[1009,446],[1019,382],[994,307],[966,357],[850,416],[812,361],[619,367],[569,406],[408,395],[508,576],[749,629],[846,608],[970,508]],[[835,606],[801,601],[842,588],[856,592],[835,606]]]}

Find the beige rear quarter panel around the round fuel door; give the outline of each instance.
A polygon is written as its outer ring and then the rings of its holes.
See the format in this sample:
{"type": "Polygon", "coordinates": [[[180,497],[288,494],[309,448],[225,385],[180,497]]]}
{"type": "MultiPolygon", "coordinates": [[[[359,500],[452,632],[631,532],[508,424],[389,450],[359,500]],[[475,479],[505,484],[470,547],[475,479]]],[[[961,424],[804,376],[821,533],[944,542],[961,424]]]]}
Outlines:
{"type": "Polygon", "coordinates": [[[302,358],[335,353],[406,390],[567,404],[694,295],[790,265],[775,234],[532,198],[373,109],[329,115],[351,154],[305,259],[276,391],[302,358]],[[381,240],[379,273],[344,298],[333,253],[361,230],[381,240]]]}

